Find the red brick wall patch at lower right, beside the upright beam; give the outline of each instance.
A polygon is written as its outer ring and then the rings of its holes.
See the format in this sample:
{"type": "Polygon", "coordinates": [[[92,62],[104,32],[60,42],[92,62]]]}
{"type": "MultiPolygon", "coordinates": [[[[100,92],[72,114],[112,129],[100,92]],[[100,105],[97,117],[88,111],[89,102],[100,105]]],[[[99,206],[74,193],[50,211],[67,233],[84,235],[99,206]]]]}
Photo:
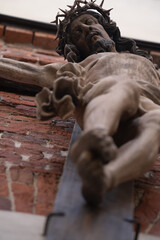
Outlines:
{"type": "Polygon", "coordinates": [[[135,182],[135,217],[142,232],[160,236],[160,155],[153,169],[135,182]]]}

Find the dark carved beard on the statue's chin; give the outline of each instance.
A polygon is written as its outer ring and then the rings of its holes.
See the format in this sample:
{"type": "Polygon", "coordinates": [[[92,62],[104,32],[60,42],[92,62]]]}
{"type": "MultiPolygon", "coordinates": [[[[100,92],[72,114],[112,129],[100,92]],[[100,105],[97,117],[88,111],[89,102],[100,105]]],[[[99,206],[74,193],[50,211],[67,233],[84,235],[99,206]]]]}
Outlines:
{"type": "Polygon", "coordinates": [[[100,39],[95,42],[91,47],[92,53],[112,52],[115,47],[115,43],[111,39],[100,39]]]}

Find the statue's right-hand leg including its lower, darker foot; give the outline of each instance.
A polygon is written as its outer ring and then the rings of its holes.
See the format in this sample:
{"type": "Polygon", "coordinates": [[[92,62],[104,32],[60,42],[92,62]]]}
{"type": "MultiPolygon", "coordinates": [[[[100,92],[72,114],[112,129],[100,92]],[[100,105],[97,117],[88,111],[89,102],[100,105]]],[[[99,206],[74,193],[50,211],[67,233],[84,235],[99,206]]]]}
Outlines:
{"type": "Polygon", "coordinates": [[[119,148],[117,157],[103,164],[89,151],[78,159],[82,194],[91,205],[98,205],[109,189],[135,179],[151,169],[160,150],[160,111],[146,113],[132,122],[138,136],[119,148]],[[151,144],[152,143],[152,144],[151,144]]]}

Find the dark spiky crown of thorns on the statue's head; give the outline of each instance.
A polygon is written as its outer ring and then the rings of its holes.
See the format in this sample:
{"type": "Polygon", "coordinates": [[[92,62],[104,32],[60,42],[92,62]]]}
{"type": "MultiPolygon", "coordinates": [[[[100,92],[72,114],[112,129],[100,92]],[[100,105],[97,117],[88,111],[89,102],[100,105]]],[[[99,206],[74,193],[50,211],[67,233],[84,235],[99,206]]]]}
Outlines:
{"type": "Polygon", "coordinates": [[[67,29],[70,23],[79,15],[83,14],[87,10],[96,10],[98,13],[100,13],[104,19],[110,23],[110,11],[112,10],[105,10],[102,8],[104,0],[102,0],[100,5],[95,4],[96,0],[91,0],[90,2],[87,2],[86,0],[75,0],[73,6],[67,5],[70,10],[62,10],[62,14],[57,14],[56,20],[53,23],[56,23],[57,26],[57,38],[59,39],[59,44],[57,47],[57,52],[60,55],[63,55],[64,52],[64,46],[65,43],[67,43],[68,34],[67,29]],[[60,20],[61,18],[64,18],[63,20],[60,20]]]}

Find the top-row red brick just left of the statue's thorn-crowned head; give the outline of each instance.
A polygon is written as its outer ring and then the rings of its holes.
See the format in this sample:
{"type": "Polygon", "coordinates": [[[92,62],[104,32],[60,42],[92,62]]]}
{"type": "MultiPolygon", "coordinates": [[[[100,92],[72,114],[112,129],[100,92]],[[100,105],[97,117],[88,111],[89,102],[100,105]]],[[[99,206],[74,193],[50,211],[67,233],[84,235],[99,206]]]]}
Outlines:
{"type": "Polygon", "coordinates": [[[49,33],[36,32],[34,36],[33,44],[34,46],[46,48],[46,49],[56,49],[57,40],[56,36],[49,33]]]}

